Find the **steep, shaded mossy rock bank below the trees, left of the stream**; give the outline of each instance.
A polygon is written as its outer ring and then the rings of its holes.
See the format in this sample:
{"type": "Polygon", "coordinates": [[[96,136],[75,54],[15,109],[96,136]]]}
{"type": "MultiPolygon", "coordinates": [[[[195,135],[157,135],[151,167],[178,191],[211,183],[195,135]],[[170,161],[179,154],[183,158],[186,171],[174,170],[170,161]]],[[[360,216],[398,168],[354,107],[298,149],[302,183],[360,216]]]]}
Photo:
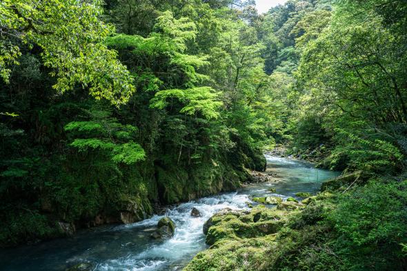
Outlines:
{"type": "MultiPolygon", "coordinates": [[[[250,170],[266,166],[259,150],[237,148],[221,157],[193,166],[167,157],[123,166],[123,174],[98,168],[70,173],[69,182],[54,179],[41,188],[39,204],[31,207],[35,212],[3,206],[0,247],[72,237],[83,228],[142,221],[162,206],[236,190],[241,183],[253,181],[250,170]]],[[[69,163],[76,165],[72,160],[69,163]]]]}

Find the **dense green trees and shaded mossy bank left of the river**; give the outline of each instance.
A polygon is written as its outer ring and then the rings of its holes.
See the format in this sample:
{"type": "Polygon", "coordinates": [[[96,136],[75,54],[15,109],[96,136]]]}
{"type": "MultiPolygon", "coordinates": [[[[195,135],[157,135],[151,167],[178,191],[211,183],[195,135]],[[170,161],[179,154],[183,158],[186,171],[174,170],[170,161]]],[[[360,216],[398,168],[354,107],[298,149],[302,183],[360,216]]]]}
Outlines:
{"type": "Polygon", "coordinates": [[[101,4],[0,3],[2,245],[137,221],[264,169],[250,8],[101,4]]]}

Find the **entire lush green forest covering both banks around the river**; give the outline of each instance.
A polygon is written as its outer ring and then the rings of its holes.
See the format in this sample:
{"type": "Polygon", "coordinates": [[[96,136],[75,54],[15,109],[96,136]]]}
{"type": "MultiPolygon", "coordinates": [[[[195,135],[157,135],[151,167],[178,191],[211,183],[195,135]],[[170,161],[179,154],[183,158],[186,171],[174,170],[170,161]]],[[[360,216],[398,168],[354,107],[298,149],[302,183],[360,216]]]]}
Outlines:
{"type": "Polygon", "coordinates": [[[407,270],[407,1],[0,1],[3,250],[235,191],[277,148],[341,175],[215,214],[184,270],[407,270]]]}

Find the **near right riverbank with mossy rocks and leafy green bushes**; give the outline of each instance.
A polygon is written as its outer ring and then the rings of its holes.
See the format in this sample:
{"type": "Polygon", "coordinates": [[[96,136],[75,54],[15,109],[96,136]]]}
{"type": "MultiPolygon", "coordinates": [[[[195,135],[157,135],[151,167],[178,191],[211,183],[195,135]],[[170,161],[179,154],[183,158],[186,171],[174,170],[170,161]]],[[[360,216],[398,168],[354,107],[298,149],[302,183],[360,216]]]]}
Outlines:
{"type": "Polygon", "coordinates": [[[210,248],[184,270],[405,270],[407,181],[376,178],[359,171],[277,208],[215,214],[204,229],[210,248]]]}

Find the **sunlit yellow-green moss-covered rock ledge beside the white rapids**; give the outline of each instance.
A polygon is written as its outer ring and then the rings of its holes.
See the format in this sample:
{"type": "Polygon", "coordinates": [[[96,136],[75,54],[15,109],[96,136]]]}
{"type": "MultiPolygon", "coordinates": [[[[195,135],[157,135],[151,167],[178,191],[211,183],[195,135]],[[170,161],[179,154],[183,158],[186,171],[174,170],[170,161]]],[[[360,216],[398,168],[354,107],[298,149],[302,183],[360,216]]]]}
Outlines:
{"type": "Polygon", "coordinates": [[[197,254],[184,271],[284,270],[293,250],[326,230],[318,221],[330,208],[329,201],[322,200],[331,196],[324,192],[308,198],[308,205],[284,201],[277,208],[222,210],[204,227],[210,248],[197,254]]]}

